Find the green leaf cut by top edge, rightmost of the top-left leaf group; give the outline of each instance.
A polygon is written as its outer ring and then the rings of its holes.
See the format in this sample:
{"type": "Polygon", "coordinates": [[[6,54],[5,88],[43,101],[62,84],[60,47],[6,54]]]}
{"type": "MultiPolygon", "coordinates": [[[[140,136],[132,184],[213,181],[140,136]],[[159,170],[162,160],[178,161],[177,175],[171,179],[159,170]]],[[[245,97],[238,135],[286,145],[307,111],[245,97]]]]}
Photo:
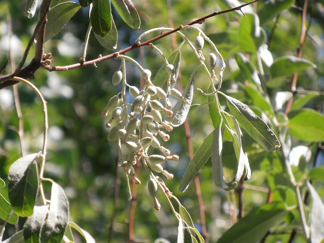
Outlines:
{"type": "Polygon", "coordinates": [[[120,17],[127,23],[131,28],[137,29],[141,25],[140,17],[138,16],[137,10],[131,0],[111,0],[111,3],[117,10],[120,17]]]}

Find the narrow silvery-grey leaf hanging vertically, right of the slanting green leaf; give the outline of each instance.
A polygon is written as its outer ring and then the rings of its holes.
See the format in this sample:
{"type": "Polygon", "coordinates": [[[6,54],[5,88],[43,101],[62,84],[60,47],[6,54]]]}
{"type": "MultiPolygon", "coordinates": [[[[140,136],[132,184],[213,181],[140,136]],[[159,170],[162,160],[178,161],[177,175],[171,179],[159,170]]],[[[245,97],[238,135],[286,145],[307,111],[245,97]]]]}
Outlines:
{"type": "Polygon", "coordinates": [[[213,132],[214,138],[212,143],[212,175],[214,183],[218,188],[225,189],[227,186],[225,184],[223,164],[222,164],[222,131],[221,127],[218,127],[213,132]]]}

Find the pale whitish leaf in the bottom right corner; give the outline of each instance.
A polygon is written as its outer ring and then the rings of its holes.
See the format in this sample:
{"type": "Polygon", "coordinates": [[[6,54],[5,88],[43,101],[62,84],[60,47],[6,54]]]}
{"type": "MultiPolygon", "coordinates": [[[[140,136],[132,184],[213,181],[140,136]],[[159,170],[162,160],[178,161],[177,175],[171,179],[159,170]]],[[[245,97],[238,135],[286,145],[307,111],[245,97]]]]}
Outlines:
{"type": "Polygon", "coordinates": [[[310,216],[310,239],[311,242],[320,242],[324,238],[324,204],[314,187],[306,181],[309,192],[313,198],[310,216]]]}

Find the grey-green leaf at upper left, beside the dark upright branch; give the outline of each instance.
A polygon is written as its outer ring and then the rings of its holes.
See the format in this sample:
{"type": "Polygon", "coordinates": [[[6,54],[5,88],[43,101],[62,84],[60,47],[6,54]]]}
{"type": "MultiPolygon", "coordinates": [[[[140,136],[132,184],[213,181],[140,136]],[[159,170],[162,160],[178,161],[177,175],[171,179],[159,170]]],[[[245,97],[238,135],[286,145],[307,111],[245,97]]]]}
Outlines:
{"type": "Polygon", "coordinates": [[[80,8],[79,4],[73,2],[63,2],[53,7],[47,14],[45,42],[57,35],[80,8]]]}

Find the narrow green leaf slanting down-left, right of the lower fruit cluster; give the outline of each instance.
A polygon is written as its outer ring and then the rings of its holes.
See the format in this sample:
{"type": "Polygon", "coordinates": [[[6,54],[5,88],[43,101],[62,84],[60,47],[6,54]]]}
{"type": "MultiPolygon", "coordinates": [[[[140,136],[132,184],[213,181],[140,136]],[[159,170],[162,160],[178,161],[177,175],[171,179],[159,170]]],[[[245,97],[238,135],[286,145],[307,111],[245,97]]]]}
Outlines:
{"type": "Polygon", "coordinates": [[[186,172],[184,173],[182,180],[180,182],[179,191],[184,192],[191,180],[197,175],[199,170],[206,164],[207,159],[211,156],[211,146],[213,142],[214,134],[211,133],[208,135],[204,142],[197,149],[195,154],[193,155],[186,172]]]}

